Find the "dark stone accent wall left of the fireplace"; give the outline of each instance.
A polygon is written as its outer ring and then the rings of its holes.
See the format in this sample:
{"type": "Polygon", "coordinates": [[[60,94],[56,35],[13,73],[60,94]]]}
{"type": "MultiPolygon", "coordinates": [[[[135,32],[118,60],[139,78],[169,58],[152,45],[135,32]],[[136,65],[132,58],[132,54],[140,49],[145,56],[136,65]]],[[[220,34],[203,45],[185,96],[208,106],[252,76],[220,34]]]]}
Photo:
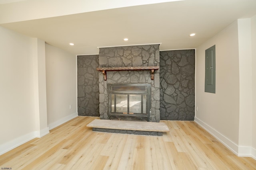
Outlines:
{"type": "Polygon", "coordinates": [[[78,115],[100,116],[99,114],[99,66],[98,55],[77,57],[78,115]]]}

